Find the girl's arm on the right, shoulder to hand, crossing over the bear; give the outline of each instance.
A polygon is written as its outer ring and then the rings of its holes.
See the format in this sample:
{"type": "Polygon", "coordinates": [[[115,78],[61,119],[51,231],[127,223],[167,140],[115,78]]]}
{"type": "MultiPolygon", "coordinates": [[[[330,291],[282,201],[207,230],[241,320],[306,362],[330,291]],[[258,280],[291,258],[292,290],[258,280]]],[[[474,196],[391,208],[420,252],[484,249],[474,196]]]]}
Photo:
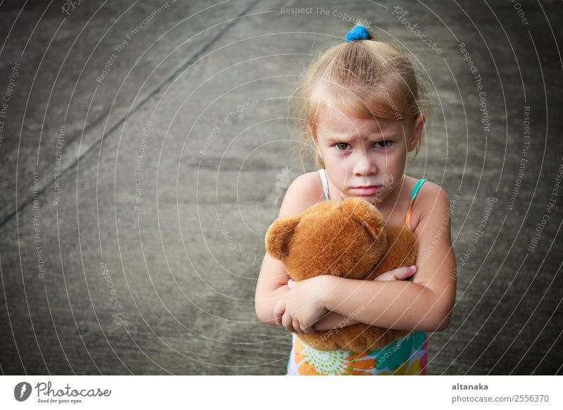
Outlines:
{"type": "Polygon", "coordinates": [[[441,187],[428,185],[426,196],[436,199],[426,206],[415,230],[418,271],[412,282],[366,282],[327,275],[302,280],[274,306],[277,323],[297,323],[296,330],[311,332],[324,310],[353,315],[355,321],[382,328],[446,328],[455,301],[449,200],[441,187]]]}

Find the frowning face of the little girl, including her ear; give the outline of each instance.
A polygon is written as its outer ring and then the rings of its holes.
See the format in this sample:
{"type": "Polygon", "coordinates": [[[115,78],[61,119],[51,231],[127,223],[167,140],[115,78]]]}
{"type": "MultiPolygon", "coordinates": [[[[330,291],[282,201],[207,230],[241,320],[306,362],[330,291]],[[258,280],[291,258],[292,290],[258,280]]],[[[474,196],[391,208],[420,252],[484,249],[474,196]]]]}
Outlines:
{"type": "Polygon", "coordinates": [[[415,149],[424,119],[362,119],[325,106],[315,146],[342,198],[362,197],[374,205],[403,182],[407,152],[415,149]]]}

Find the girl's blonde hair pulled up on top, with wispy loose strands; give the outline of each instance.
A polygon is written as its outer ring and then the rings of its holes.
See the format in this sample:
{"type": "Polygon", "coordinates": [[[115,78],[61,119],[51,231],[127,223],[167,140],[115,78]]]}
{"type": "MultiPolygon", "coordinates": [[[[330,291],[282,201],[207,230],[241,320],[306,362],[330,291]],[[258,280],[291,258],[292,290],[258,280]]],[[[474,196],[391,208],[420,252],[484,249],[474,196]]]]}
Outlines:
{"type": "MultiPolygon", "coordinates": [[[[305,75],[299,76],[291,93],[289,109],[301,135],[299,156],[305,168],[305,151],[316,138],[317,120],[322,107],[334,106],[358,118],[414,120],[422,113],[428,119],[429,99],[407,56],[386,42],[374,39],[353,40],[331,46],[312,61],[305,75]]],[[[422,76],[424,77],[424,76],[422,76]]],[[[422,144],[422,135],[415,157],[422,144]]],[[[315,152],[315,166],[324,162],[315,152]]]]}

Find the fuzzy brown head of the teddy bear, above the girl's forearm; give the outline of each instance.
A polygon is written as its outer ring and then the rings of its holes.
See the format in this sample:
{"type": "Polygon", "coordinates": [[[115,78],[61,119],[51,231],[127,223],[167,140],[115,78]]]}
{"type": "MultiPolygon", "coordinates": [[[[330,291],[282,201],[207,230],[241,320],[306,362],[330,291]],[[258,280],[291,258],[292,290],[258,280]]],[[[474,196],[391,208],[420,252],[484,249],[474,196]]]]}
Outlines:
{"type": "Polygon", "coordinates": [[[318,275],[363,279],[386,252],[385,219],[361,198],[323,201],[301,215],[275,220],[265,242],[294,280],[318,275]]]}

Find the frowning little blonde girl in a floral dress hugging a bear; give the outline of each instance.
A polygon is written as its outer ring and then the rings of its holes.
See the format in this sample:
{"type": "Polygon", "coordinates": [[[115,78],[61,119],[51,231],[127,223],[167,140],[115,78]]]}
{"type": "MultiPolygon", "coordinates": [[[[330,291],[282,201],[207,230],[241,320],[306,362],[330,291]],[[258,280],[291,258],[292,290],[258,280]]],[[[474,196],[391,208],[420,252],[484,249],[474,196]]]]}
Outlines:
{"type": "Polygon", "coordinates": [[[374,281],[321,275],[293,282],[283,263],[266,254],[257,316],[293,332],[288,374],[426,374],[426,332],[443,330],[450,321],[455,256],[448,195],[404,173],[407,153],[416,156],[424,127],[426,99],[415,71],[405,54],[357,25],[345,43],[312,63],[293,97],[294,118],[314,144],[320,170],[291,183],[279,217],[322,200],[361,197],[388,225],[404,223],[415,233],[418,256],[416,266],[374,281]],[[296,337],[354,323],[412,332],[368,352],[325,352],[296,337]]]}

